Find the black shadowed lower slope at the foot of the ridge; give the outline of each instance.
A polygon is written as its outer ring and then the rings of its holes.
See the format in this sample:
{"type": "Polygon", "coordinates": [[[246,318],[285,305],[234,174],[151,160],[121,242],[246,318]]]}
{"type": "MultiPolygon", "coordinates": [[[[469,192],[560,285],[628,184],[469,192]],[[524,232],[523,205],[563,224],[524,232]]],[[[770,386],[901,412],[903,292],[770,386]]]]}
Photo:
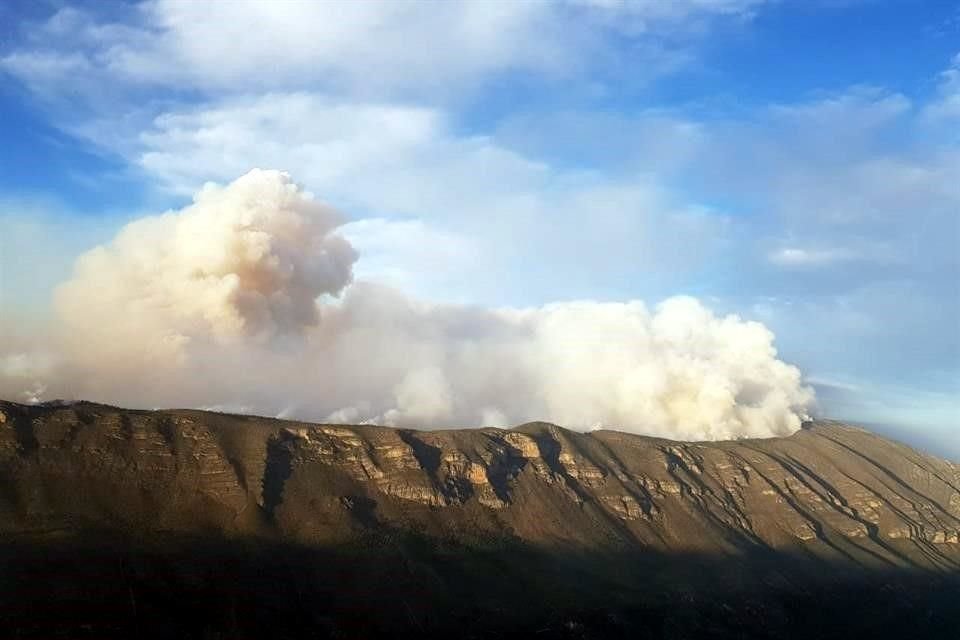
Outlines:
{"type": "Polygon", "coordinates": [[[0,546],[21,638],[957,638],[960,575],[786,554],[468,548],[414,534],[317,549],[109,532],[0,546]]]}

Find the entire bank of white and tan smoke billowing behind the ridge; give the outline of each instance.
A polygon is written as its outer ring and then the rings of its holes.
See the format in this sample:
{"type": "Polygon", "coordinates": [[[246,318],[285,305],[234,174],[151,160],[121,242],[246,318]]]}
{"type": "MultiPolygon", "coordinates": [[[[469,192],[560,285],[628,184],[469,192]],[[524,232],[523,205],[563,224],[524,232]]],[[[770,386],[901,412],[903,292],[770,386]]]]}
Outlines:
{"type": "Polygon", "coordinates": [[[787,434],[813,401],[761,324],[686,297],[427,304],[352,283],[340,222],[286,174],[254,170],[127,225],[57,291],[48,348],[0,351],[0,394],[683,439],[787,434]]]}

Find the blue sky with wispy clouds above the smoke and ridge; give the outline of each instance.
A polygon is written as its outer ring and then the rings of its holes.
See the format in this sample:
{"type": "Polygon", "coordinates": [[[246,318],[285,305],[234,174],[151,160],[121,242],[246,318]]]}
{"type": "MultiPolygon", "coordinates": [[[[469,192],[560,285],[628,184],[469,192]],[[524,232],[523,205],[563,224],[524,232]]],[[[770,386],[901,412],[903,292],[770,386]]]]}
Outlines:
{"type": "Polygon", "coordinates": [[[960,3],[12,2],[0,38],[9,317],[123,222],[279,168],[361,278],[694,295],[823,413],[960,457],[960,3]]]}

